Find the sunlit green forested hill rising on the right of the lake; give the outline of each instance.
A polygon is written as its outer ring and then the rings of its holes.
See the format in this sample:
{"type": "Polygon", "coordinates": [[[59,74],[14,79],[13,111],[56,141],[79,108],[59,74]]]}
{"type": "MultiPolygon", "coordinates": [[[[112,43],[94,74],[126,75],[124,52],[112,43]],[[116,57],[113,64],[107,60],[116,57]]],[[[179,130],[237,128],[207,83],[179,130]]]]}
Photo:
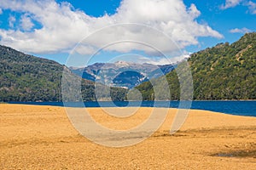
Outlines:
{"type": "MultiPolygon", "coordinates": [[[[247,33],[232,44],[219,43],[191,54],[188,62],[193,77],[194,99],[256,99],[256,32],[247,33]]],[[[168,73],[166,79],[171,99],[179,99],[176,71],[168,73]]],[[[160,78],[155,82],[160,83],[160,78]]],[[[136,88],[142,92],[144,100],[154,99],[154,88],[150,82],[143,82],[136,88]]]]}

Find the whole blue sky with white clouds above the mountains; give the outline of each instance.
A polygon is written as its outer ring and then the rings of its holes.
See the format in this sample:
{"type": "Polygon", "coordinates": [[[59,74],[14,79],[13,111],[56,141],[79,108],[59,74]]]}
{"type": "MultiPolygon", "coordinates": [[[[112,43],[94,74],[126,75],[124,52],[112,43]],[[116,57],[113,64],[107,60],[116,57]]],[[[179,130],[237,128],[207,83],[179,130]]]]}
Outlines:
{"type": "Polygon", "coordinates": [[[169,64],[255,23],[255,0],[0,1],[0,44],[68,66],[169,64]]]}

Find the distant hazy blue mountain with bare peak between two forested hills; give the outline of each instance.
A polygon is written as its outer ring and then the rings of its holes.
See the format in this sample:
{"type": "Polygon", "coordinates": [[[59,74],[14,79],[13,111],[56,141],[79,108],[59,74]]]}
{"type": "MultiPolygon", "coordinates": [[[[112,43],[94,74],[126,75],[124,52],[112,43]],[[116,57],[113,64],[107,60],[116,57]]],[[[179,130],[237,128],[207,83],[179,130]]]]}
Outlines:
{"type": "Polygon", "coordinates": [[[134,88],[151,78],[161,77],[174,69],[173,65],[137,64],[118,61],[96,63],[85,68],[70,67],[79,77],[93,82],[101,82],[112,87],[134,88]]]}

